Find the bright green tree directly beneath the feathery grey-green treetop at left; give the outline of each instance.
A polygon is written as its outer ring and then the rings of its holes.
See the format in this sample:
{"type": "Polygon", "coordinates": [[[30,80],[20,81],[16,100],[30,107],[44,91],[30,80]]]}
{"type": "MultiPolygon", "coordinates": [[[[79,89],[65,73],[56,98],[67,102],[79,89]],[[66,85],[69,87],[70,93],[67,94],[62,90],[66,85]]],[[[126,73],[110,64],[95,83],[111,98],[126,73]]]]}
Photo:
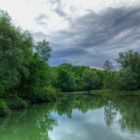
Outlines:
{"type": "Polygon", "coordinates": [[[49,67],[45,61],[35,54],[32,57],[29,67],[30,75],[25,84],[30,93],[39,92],[41,88],[49,83],[49,67]]]}

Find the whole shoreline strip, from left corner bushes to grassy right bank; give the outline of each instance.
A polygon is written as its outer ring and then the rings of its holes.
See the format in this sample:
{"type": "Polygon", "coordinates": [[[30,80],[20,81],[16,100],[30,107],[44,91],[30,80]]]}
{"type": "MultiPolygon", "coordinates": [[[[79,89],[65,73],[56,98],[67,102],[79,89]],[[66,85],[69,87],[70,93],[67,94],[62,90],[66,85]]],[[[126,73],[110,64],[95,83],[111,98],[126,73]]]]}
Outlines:
{"type": "Polygon", "coordinates": [[[76,94],[88,94],[90,95],[99,95],[99,96],[138,96],[140,97],[140,90],[137,91],[119,91],[119,90],[110,90],[110,89],[102,89],[102,90],[90,90],[90,91],[78,91],[78,92],[63,92],[59,93],[56,97],[51,97],[51,100],[26,100],[22,97],[13,96],[8,98],[0,98],[0,117],[6,117],[11,114],[13,110],[21,110],[32,106],[33,104],[39,103],[50,103],[56,102],[65,96],[76,95],[76,94]]]}

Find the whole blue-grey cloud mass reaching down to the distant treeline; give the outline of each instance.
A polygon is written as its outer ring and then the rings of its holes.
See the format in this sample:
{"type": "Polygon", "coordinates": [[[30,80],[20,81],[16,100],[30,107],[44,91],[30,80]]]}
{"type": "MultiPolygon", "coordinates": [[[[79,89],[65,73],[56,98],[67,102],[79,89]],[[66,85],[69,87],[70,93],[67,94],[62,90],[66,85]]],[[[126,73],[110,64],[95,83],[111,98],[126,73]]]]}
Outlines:
{"type": "Polygon", "coordinates": [[[114,61],[120,51],[140,51],[140,8],[108,8],[99,14],[90,11],[49,39],[56,50],[52,64],[102,66],[106,59],[114,61]]]}

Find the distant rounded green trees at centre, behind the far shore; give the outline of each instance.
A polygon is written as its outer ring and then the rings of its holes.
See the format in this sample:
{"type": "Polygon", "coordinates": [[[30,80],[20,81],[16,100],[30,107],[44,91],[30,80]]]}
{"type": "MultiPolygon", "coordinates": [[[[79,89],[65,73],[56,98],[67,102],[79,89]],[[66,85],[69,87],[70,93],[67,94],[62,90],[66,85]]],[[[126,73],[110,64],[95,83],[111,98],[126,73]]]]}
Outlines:
{"type": "Polygon", "coordinates": [[[57,82],[53,83],[61,91],[100,89],[103,86],[103,70],[71,64],[62,64],[54,69],[57,82]]]}

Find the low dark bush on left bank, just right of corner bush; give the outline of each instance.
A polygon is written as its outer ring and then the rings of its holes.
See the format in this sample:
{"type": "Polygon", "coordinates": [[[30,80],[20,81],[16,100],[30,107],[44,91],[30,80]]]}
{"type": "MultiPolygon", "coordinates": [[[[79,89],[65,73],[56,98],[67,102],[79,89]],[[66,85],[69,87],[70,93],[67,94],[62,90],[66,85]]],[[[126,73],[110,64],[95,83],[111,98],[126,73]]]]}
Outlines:
{"type": "Polygon", "coordinates": [[[9,97],[5,101],[11,109],[23,109],[28,106],[27,102],[18,96],[9,97]]]}

